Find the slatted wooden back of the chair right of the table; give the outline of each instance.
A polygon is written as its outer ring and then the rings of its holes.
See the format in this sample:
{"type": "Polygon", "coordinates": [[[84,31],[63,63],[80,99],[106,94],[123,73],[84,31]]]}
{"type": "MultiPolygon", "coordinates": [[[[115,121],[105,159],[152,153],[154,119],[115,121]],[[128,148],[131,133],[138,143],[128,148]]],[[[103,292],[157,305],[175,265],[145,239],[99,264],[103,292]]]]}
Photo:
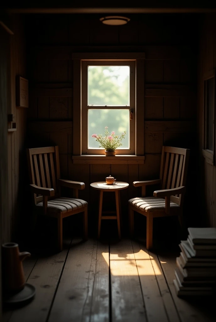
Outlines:
{"type": "MultiPolygon", "coordinates": [[[[160,165],[162,189],[185,186],[189,161],[189,149],[163,147],[160,165]]],[[[170,201],[181,205],[182,195],[170,197],[170,201]]]]}

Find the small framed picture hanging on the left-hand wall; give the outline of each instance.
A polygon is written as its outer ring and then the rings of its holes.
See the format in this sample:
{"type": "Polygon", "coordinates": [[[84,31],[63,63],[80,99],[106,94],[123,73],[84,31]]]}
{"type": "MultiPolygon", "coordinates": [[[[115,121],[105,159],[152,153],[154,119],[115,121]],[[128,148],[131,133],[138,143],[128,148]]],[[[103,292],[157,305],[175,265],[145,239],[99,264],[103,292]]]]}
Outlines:
{"type": "Polygon", "coordinates": [[[29,107],[29,81],[21,76],[16,78],[16,106],[29,107]]]}

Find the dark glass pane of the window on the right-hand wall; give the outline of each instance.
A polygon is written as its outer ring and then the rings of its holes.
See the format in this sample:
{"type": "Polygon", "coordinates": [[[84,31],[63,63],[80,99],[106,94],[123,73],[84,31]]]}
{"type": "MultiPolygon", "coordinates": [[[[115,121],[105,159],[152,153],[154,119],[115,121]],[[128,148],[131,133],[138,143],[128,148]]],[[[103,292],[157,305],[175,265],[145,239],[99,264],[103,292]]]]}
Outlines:
{"type": "Polygon", "coordinates": [[[206,81],[206,129],[207,140],[206,148],[213,151],[213,118],[214,118],[214,79],[210,78],[206,81]]]}

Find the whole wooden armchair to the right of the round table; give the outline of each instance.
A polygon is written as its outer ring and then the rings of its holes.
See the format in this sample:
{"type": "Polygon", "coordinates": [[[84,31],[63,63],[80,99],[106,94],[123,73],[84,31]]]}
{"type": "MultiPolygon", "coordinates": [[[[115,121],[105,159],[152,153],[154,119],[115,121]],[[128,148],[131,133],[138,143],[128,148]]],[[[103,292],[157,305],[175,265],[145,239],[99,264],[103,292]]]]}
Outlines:
{"type": "Polygon", "coordinates": [[[189,149],[163,147],[160,165],[160,179],[135,181],[135,187],[142,187],[142,197],[129,200],[129,225],[131,237],[134,234],[134,211],[146,216],[146,248],[152,248],[153,218],[174,216],[182,223],[182,206],[189,160],[189,149]],[[146,197],[146,186],[160,185],[162,190],[146,197]],[[165,198],[165,199],[164,199],[165,198]]]}

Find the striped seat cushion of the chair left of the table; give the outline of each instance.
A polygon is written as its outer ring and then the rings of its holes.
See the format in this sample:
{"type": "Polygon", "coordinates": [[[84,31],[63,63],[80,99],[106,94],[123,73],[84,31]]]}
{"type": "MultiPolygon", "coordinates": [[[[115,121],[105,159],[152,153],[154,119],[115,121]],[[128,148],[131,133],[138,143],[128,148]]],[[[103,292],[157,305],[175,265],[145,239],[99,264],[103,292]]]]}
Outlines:
{"type": "MultiPolygon", "coordinates": [[[[49,200],[47,203],[47,211],[50,213],[67,213],[68,211],[85,207],[87,206],[87,204],[88,203],[82,199],[61,197],[49,200]]],[[[38,208],[38,210],[40,208],[42,210],[42,207],[42,201],[36,205],[36,208],[38,208]]]]}

